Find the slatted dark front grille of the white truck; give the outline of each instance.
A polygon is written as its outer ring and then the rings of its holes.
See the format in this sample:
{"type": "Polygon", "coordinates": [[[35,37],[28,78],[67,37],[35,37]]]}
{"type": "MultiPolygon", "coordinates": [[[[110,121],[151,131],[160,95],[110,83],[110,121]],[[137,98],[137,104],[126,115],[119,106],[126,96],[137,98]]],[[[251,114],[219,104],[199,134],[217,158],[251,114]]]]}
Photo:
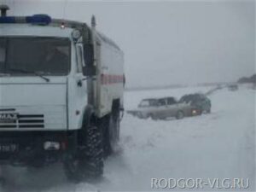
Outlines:
{"type": "Polygon", "coordinates": [[[0,128],[44,128],[44,114],[19,114],[16,120],[0,121],[0,128]]]}

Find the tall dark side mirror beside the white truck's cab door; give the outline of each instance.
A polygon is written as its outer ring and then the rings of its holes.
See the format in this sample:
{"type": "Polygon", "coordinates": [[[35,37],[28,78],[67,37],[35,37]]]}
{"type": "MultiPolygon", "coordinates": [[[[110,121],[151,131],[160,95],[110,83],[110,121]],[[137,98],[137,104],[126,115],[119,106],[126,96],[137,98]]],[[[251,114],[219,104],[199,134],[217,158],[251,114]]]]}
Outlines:
{"type": "Polygon", "coordinates": [[[84,44],[84,76],[96,75],[96,67],[94,66],[94,49],[92,44],[84,44]]]}

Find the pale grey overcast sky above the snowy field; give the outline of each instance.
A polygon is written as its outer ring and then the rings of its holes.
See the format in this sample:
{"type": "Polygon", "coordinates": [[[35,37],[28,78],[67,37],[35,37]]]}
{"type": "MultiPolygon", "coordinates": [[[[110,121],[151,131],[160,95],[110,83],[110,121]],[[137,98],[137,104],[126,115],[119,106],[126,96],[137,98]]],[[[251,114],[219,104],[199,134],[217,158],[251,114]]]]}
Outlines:
{"type": "Polygon", "coordinates": [[[125,52],[127,85],[236,81],[255,73],[255,1],[0,0],[9,14],[90,23],[125,52]],[[64,11],[66,4],[66,11],[64,11]]]}

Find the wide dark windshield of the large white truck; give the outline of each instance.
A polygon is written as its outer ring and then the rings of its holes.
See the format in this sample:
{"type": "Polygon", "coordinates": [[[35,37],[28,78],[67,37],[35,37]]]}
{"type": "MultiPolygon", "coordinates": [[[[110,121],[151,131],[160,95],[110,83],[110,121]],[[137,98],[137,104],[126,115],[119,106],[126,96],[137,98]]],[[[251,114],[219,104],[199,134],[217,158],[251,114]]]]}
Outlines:
{"type": "Polygon", "coordinates": [[[0,73],[67,75],[70,44],[68,38],[0,38],[0,73]]]}

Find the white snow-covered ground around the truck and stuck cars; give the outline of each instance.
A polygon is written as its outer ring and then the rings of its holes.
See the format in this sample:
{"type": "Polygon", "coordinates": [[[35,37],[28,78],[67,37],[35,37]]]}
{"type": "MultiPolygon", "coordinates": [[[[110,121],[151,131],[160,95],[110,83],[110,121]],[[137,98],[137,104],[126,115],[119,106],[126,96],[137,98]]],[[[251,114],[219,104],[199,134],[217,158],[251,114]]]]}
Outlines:
{"type": "MultiPolygon", "coordinates": [[[[207,92],[210,87],[129,91],[125,108],[137,107],[146,97],[207,92]]],[[[249,178],[255,190],[255,90],[217,90],[209,98],[212,113],[185,119],[137,119],[125,114],[118,154],[106,160],[101,181],[67,183],[61,166],[41,172],[11,168],[6,192],[148,191],[152,178],[249,178]]],[[[176,191],[176,189],[166,189],[176,191]]],[[[183,189],[186,190],[186,189],[183,189]]],[[[194,190],[194,189],[190,189],[194,190]]],[[[201,191],[229,189],[210,189],[201,191]]]]}

